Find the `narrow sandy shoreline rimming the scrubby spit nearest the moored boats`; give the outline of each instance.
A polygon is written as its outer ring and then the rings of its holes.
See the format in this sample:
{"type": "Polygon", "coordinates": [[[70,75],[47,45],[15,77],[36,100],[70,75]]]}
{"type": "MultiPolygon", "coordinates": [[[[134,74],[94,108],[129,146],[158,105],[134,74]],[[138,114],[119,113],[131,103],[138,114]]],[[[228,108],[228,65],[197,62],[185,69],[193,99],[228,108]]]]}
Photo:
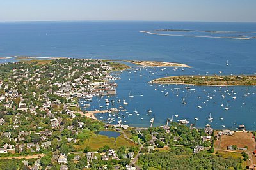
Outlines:
{"type": "MultiPolygon", "coordinates": [[[[256,86],[256,84],[248,85],[248,84],[234,84],[234,85],[207,85],[207,84],[196,84],[196,83],[177,83],[177,82],[170,82],[166,81],[164,79],[168,78],[221,78],[221,77],[253,77],[256,78],[256,76],[168,76],[168,77],[163,77],[163,78],[156,78],[152,80],[152,83],[154,84],[170,84],[170,85],[193,85],[193,86],[207,86],[207,87],[231,87],[231,86],[256,86]],[[159,81],[163,79],[163,81],[159,81]]],[[[225,81],[225,80],[224,80],[225,81]]]]}

